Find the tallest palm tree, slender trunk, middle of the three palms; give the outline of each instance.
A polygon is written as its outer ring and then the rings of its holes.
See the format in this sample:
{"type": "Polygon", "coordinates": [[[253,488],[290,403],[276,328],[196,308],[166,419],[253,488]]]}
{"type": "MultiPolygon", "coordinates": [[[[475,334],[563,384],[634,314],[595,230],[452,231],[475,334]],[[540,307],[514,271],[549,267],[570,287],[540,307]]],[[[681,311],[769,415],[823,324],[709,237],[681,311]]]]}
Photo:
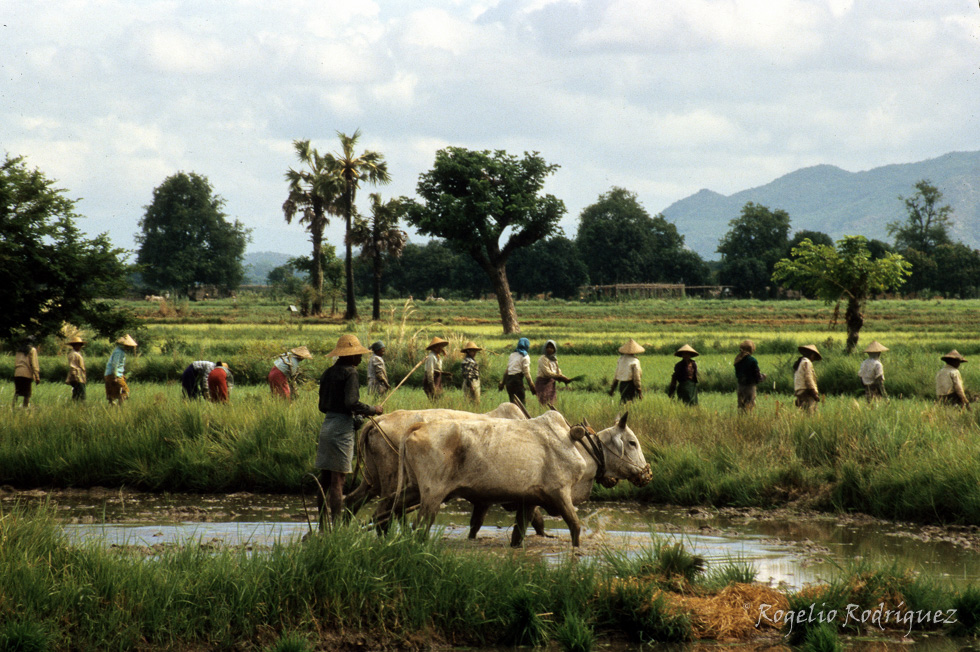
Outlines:
{"type": "Polygon", "coordinates": [[[334,175],[340,179],[341,196],[340,209],[345,220],[344,244],[345,248],[345,271],[347,278],[347,308],[344,311],[344,319],[357,319],[357,304],[354,302],[354,268],[351,263],[351,221],[354,213],[354,199],[361,181],[368,181],[373,184],[386,184],[391,181],[388,176],[388,163],[384,160],[384,155],[378,152],[365,151],[360,155],[354,155],[354,147],[357,139],[361,137],[361,130],[358,129],[353,135],[348,136],[339,131],[340,152],[328,154],[325,158],[330,159],[330,166],[334,175]]]}

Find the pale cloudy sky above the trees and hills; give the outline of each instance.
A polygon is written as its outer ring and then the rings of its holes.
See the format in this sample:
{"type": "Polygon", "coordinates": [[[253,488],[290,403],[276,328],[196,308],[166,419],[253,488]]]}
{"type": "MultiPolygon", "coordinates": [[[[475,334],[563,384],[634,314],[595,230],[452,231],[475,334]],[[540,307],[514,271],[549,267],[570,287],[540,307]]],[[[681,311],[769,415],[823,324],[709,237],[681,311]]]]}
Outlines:
{"type": "Polygon", "coordinates": [[[0,152],[126,248],[185,171],[250,251],[305,252],[281,210],[292,141],[333,151],[358,128],[385,197],[443,147],[538,151],[574,236],[612,186],[656,213],[809,165],[978,150],[978,77],[977,0],[0,2],[0,152]]]}

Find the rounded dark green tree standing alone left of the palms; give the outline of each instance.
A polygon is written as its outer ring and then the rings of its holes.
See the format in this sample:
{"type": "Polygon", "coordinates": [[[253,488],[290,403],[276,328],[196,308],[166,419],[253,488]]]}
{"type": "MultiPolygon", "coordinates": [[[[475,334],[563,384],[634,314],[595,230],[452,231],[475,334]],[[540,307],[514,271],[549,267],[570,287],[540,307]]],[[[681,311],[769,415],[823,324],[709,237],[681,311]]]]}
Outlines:
{"type": "Polygon", "coordinates": [[[178,172],[154,189],[136,234],[144,280],[187,294],[199,285],[225,291],[241,285],[250,229],[228,222],[224,204],[207,178],[194,172],[178,172]]]}

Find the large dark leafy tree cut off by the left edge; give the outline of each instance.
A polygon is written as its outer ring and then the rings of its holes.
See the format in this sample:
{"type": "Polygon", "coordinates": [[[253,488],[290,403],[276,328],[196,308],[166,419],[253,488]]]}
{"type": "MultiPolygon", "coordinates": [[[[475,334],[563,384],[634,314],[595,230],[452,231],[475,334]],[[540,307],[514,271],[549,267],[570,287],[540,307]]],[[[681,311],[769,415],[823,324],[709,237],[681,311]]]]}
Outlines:
{"type": "Polygon", "coordinates": [[[0,163],[0,338],[45,336],[64,322],[111,337],[132,316],[106,301],[126,290],[125,251],[83,237],[75,200],[22,157],[0,163]]]}

